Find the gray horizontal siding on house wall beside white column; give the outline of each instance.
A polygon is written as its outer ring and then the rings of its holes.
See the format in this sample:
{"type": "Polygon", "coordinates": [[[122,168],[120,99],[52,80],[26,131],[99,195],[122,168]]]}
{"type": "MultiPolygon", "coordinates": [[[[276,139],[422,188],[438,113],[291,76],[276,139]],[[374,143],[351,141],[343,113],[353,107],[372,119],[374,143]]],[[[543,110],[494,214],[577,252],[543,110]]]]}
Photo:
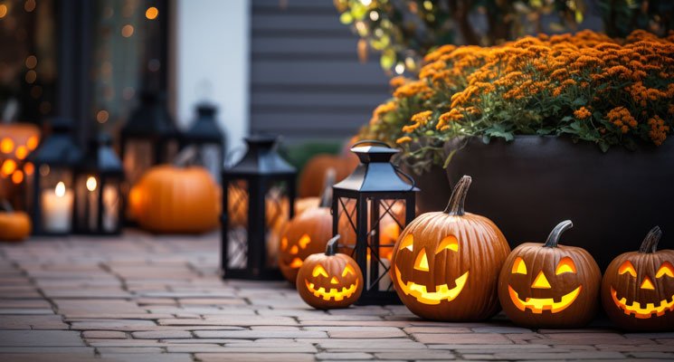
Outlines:
{"type": "Polygon", "coordinates": [[[358,62],[331,0],[281,3],[252,0],[252,131],[290,143],[353,135],[390,97],[378,54],[358,62]]]}

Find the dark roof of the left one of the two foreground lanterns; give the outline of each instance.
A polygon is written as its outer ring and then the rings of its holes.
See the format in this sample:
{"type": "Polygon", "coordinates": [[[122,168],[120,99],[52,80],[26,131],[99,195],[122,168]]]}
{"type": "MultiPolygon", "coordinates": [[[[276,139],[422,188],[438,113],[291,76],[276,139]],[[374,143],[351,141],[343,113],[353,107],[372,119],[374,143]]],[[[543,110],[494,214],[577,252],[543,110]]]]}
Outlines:
{"type": "Polygon", "coordinates": [[[294,175],[295,167],[290,166],[276,150],[278,138],[270,135],[252,135],[243,138],[248,146],[246,154],[233,167],[223,171],[223,175],[294,175]]]}

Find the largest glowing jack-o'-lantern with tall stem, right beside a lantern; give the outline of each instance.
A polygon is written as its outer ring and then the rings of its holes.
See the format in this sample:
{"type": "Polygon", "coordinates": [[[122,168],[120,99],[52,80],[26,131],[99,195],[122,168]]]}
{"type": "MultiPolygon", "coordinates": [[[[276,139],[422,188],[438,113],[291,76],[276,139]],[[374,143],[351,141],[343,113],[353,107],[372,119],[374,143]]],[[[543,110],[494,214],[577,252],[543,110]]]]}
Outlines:
{"type": "Polygon", "coordinates": [[[395,291],[422,318],[479,320],[498,311],[498,271],[510,247],[488,218],[464,212],[470,181],[463,176],[444,212],[420,215],[395,243],[395,291]]]}

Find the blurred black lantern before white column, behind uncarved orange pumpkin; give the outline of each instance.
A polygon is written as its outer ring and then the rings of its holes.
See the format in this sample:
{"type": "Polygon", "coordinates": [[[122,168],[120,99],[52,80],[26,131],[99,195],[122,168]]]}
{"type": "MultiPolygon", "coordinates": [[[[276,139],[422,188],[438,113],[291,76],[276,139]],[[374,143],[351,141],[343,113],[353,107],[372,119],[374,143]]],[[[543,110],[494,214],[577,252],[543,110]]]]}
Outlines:
{"type": "Polygon", "coordinates": [[[205,167],[216,181],[220,181],[224,162],[224,135],[215,120],[215,106],[202,103],[196,106],[195,123],[181,135],[181,149],[195,148],[195,163],[205,167]]]}

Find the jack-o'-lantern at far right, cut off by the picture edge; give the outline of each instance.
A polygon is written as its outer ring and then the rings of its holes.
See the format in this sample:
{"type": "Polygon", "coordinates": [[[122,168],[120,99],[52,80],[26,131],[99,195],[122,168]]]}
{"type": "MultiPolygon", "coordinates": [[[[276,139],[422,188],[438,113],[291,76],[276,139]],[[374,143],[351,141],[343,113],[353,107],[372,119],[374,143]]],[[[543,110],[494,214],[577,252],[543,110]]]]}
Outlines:
{"type": "Polygon", "coordinates": [[[658,251],[656,226],[639,252],[613,259],[603,274],[603,309],[623,329],[674,329],[674,250],[658,251]]]}

